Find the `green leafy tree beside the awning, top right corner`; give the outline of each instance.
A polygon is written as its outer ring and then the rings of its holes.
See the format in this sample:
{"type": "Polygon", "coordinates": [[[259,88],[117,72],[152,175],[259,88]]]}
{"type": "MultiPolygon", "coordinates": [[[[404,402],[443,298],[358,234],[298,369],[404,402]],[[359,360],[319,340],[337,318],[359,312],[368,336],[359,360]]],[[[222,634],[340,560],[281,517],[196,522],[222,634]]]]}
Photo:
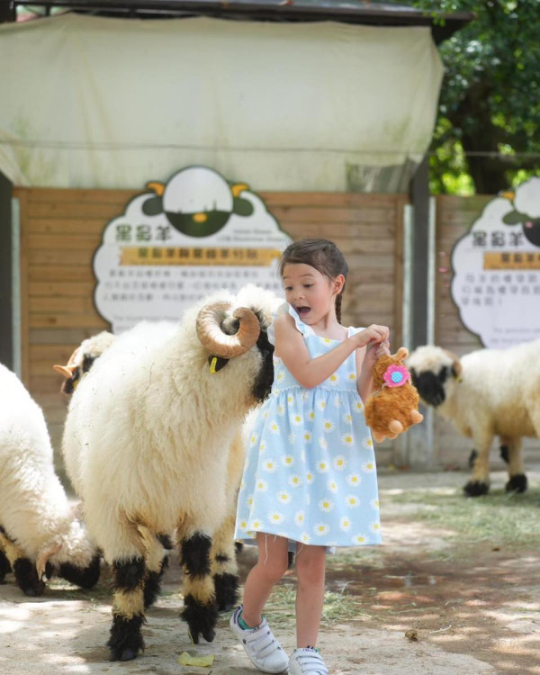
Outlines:
{"type": "Polygon", "coordinates": [[[437,14],[476,14],[439,46],[446,74],[431,148],[432,191],[497,193],[540,175],[540,0],[413,4],[437,14]]]}

